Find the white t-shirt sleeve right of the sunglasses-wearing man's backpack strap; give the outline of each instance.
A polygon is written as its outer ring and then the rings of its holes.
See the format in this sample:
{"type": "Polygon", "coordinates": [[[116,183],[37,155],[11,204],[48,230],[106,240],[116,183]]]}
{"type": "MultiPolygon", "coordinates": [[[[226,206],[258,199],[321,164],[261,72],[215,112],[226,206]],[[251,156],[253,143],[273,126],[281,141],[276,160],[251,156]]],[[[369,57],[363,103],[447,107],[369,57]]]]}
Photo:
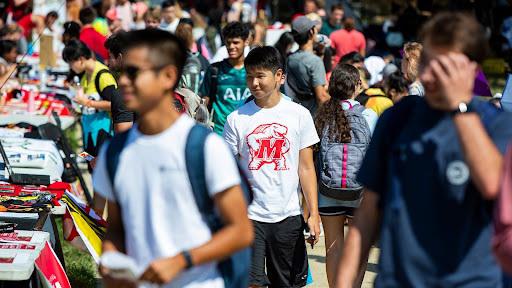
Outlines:
{"type": "Polygon", "coordinates": [[[206,139],[205,169],[210,196],[240,184],[235,157],[222,138],[214,133],[206,139]]]}

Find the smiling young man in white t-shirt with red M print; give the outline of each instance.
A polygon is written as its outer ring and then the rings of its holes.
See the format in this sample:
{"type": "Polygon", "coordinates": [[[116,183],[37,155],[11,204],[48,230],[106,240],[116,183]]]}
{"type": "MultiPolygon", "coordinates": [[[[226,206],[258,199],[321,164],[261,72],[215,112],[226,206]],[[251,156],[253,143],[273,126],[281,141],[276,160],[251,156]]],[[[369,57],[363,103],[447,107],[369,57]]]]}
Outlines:
{"type": "Polygon", "coordinates": [[[249,281],[251,287],[302,287],[308,263],[299,191],[302,187],[309,208],[308,240],[314,245],[320,218],[312,146],[319,138],[309,111],[279,92],[283,60],[277,49],[254,48],[245,67],[255,100],[228,116],[224,139],[240,158],[254,192],[249,281]]]}

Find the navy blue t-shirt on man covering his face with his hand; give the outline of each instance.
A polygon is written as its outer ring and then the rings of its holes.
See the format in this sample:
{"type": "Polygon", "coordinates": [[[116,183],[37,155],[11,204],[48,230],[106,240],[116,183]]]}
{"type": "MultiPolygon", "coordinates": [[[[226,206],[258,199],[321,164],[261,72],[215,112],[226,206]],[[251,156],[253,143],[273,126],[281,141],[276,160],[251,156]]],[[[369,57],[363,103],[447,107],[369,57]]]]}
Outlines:
{"type": "MultiPolygon", "coordinates": [[[[451,116],[418,96],[404,100],[382,115],[358,176],[380,197],[376,287],[501,287],[491,252],[493,202],[471,183],[451,116]]],[[[472,104],[504,153],[511,114],[472,104]]]]}

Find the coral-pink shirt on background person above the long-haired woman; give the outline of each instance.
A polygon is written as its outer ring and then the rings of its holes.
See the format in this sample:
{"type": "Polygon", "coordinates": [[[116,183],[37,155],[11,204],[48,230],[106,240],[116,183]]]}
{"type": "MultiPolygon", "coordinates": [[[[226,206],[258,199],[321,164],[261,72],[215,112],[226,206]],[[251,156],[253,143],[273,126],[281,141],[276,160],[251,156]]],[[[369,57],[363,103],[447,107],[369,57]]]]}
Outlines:
{"type": "Polygon", "coordinates": [[[360,52],[366,49],[366,39],[363,33],[352,30],[347,31],[340,29],[331,33],[331,46],[336,51],[334,56],[335,63],[340,61],[340,58],[350,52],[360,52]]]}

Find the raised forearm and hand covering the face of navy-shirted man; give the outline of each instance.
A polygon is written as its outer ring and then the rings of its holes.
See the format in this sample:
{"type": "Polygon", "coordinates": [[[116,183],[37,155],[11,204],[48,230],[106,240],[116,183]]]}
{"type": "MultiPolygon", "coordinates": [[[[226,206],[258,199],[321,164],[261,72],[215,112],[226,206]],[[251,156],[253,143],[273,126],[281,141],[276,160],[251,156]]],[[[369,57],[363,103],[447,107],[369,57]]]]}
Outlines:
{"type": "MultiPolygon", "coordinates": [[[[461,103],[469,103],[473,97],[473,85],[477,64],[463,54],[442,55],[429,63],[422,81],[429,86],[439,87],[442,98],[433,103],[445,111],[458,109],[461,103]],[[432,85],[432,86],[431,86],[432,85]]],[[[486,199],[494,199],[498,194],[503,157],[484,129],[476,113],[460,113],[453,117],[459,139],[469,166],[471,179],[478,191],[486,199]],[[484,152],[483,152],[484,151],[484,152]],[[485,157],[482,157],[485,153],[485,157]]]]}

